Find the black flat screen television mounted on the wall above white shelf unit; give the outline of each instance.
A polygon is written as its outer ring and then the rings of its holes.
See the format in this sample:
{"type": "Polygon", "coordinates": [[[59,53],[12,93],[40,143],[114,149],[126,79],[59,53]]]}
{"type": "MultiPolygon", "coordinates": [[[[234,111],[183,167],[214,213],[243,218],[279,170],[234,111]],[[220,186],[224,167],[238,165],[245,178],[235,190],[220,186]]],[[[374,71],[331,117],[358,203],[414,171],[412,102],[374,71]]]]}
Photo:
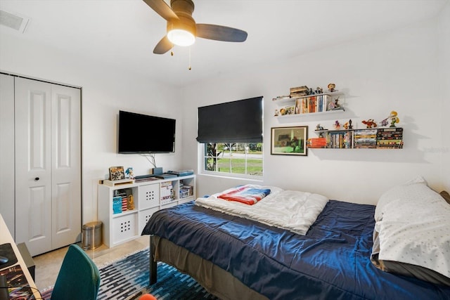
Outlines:
{"type": "Polygon", "coordinates": [[[118,152],[175,152],[175,119],[119,111],[118,152]]]}

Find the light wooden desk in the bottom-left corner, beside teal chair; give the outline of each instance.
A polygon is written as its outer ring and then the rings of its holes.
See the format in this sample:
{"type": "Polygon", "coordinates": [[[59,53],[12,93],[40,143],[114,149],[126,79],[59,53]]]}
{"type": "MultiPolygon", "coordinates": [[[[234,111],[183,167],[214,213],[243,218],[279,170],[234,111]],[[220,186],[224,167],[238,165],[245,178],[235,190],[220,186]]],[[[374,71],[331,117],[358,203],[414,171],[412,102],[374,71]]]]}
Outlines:
{"type": "Polygon", "coordinates": [[[15,295],[25,296],[26,299],[40,299],[41,294],[39,293],[30,271],[27,269],[27,265],[23,260],[23,257],[20,255],[19,249],[0,214],[0,244],[5,243],[11,244],[13,252],[17,258],[17,262],[12,266],[7,266],[4,268],[4,266],[0,265],[0,274],[6,275],[8,284],[10,283],[9,281],[14,278],[12,286],[18,287],[9,289],[10,299],[11,297],[14,298],[15,295]],[[32,295],[34,297],[32,297],[32,295]]]}

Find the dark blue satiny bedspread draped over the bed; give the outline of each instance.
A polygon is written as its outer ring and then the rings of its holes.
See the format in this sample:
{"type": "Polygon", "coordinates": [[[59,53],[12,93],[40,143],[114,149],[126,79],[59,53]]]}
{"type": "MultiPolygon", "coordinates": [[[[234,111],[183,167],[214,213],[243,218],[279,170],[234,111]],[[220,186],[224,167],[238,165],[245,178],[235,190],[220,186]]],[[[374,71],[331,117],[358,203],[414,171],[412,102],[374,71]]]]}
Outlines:
{"type": "Polygon", "coordinates": [[[450,299],[450,287],[373,266],[374,210],[330,200],[297,235],[190,202],[155,212],[142,234],[212,261],[269,299],[450,299]]]}

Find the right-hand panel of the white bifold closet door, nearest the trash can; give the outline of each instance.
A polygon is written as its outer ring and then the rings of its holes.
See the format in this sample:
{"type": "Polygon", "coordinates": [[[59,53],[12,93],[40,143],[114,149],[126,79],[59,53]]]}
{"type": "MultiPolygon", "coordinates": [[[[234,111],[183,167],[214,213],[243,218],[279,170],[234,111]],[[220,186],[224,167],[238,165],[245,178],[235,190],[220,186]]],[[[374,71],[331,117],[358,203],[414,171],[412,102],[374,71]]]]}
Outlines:
{"type": "Polygon", "coordinates": [[[79,239],[82,228],[81,98],[79,89],[51,85],[52,247],[79,239]]]}

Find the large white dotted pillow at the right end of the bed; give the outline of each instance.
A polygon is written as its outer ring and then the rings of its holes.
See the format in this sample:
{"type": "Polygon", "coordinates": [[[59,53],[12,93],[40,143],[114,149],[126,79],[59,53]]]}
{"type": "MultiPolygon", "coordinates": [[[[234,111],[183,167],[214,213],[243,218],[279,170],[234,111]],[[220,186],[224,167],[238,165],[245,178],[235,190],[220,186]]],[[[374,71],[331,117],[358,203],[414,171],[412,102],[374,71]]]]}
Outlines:
{"type": "Polygon", "coordinates": [[[384,193],[375,221],[380,261],[409,263],[450,278],[450,206],[423,178],[384,193]]]}

